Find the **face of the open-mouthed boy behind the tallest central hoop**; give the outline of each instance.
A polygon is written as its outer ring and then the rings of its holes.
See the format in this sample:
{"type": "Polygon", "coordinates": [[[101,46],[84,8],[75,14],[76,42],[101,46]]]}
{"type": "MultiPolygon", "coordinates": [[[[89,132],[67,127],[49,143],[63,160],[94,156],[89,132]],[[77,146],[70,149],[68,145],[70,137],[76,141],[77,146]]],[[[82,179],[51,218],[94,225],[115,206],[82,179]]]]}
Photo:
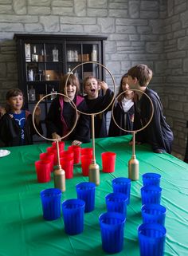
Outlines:
{"type": "Polygon", "coordinates": [[[84,93],[88,95],[89,100],[96,99],[99,96],[100,86],[95,78],[89,78],[84,85],[84,93]]]}

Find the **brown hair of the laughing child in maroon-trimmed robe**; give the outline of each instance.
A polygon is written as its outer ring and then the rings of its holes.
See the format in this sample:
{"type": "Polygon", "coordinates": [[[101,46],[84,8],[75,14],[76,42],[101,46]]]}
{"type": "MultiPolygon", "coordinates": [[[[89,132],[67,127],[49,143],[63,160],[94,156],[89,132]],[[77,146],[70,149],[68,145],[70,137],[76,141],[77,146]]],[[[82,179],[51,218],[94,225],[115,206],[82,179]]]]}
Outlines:
{"type": "Polygon", "coordinates": [[[74,74],[66,74],[65,76],[61,77],[60,93],[63,93],[63,94],[65,93],[64,89],[65,89],[66,81],[67,81],[67,85],[76,85],[76,95],[80,93],[80,82],[74,74]],[[67,81],[68,77],[69,79],[67,81]]]}

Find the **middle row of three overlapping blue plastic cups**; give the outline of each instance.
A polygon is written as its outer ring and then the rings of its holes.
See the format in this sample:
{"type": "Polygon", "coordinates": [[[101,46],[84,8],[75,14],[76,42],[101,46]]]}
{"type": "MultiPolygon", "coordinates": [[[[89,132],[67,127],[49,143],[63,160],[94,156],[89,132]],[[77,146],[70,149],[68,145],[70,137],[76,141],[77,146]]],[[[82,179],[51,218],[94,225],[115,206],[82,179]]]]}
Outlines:
{"type": "Polygon", "coordinates": [[[123,250],[123,230],[130,202],[131,179],[112,179],[112,193],[105,197],[107,212],[100,215],[102,248],[108,254],[123,250]]]}

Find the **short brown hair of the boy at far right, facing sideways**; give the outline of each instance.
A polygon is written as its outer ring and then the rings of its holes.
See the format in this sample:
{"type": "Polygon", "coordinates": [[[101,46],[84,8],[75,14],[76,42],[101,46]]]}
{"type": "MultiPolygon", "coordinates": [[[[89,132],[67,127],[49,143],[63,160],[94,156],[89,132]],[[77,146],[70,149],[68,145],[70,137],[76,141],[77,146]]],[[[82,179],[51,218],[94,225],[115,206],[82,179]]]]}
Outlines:
{"type": "Polygon", "coordinates": [[[131,76],[132,78],[136,77],[139,81],[139,85],[141,87],[145,87],[151,81],[153,73],[152,70],[147,67],[147,65],[139,64],[129,69],[127,75],[131,76]]]}

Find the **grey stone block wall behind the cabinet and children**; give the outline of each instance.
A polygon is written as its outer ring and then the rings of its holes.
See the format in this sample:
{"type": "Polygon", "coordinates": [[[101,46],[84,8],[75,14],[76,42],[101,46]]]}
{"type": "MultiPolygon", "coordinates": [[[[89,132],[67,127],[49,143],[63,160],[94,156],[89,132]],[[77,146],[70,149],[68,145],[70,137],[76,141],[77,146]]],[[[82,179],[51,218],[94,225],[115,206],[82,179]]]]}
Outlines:
{"type": "Polygon", "coordinates": [[[106,65],[116,85],[132,65],[145,63],[153,70],[151,88],[173,128],[174,151],[184,154],[187,5],[186,0],[0,0],[0,104],[7,89],[18,86],[14,33],[104,35],[106,65]]]}

